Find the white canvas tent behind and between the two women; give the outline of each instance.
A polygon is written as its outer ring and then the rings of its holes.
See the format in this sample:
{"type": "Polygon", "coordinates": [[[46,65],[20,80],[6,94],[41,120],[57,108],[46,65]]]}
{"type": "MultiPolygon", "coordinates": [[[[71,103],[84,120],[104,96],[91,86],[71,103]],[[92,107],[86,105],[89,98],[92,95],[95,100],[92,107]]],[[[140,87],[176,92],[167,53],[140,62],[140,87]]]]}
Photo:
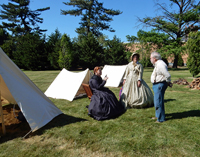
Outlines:
{"type": "Polygon", "coordinates": [[[119,87],[120,82],[123,79],[127,65],[105,65],[102,70],[101,77],[106,75],[108,80],[105,84],[107,87],[119,87]]]}

